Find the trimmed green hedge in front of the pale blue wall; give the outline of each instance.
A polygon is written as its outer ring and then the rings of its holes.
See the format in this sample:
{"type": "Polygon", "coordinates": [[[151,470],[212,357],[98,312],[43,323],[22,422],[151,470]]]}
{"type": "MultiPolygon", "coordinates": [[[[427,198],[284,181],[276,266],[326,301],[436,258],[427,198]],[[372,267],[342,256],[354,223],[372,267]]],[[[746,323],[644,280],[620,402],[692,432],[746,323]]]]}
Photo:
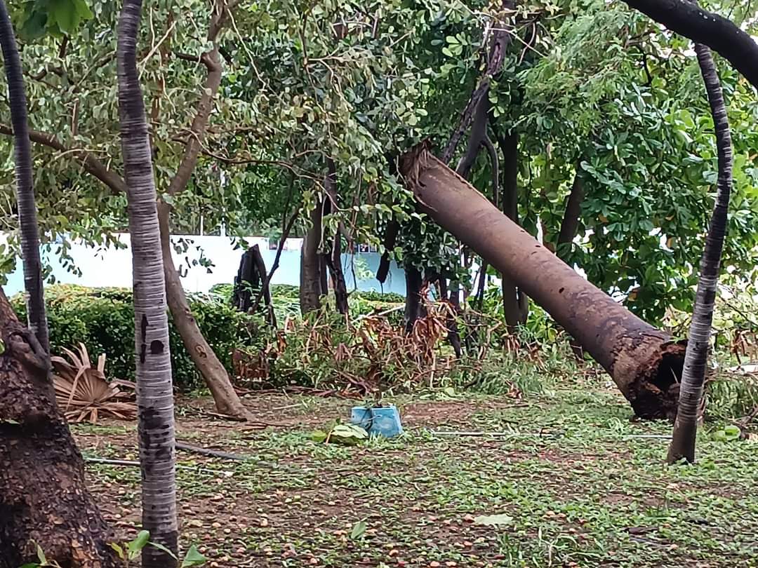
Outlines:
{"type": "MultiPolygon", "coordinates": [[[[70,349],[82,342],[92,360],[105,353],[106,376],[133,379],[134,312],[131,290],[55,285],[45,288],[45,301],[50,345],[54,354],[62,354],[61,348],[70,349]]],[[[205,339],[231,371],[233,349],[254,345],[254,320],[233,310],[220,295],[194,295],[189,302],[205,339]]],[[[18,316],[25,320],[23,298],[17,295],[11,298],[11,303],[18,316]]],[[[202,380],[171,317],[168,321],[174,385],[183,390],[202,386],[202,380]]]]}

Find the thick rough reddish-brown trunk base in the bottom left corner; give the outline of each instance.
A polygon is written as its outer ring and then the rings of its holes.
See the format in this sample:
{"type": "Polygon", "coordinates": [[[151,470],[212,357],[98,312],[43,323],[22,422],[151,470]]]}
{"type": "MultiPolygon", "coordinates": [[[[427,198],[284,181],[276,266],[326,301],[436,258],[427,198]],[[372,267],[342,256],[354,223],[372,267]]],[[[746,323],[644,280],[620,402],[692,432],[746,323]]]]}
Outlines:
{"type": "Polygon", "coordinates": [[[115,568],[113,535],[55,404],[49,358],[2,290],[0,336],[0,568],[36,561],[32,540],[64,568],[115,568]]]}

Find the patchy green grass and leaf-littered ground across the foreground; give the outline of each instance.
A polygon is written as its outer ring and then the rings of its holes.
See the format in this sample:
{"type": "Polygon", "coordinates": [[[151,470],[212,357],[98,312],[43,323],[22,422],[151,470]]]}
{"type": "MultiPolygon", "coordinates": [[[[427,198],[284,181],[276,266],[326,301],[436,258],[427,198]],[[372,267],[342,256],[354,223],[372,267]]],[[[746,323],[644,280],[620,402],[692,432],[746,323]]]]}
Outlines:
{"type": "MultiPolygon", "coordinates": [[[[182,537],[216,566],[756,566],[755,443],[718,442],[707,425],[698,463],[667,467],[666,439],[641,436],[670,425],[632,421],[620,395],[584,380],[557,377],[526,400],[399,398],[406,435],[349,448],[309,436],[349,401],[256,398],[260,412],[289,406],[274,413],[288,426],[265,432],[180,419],[193,443],[256,460],[180,455],[196,467],[178,473],[182,537]],[[446,428],[508,435],[431,433],[446,428]],[[475,522],[496,514],[509,522],[475,522]]],[[[74,426],[102,454],[97,429],[74,426]]],[[[118,444],[136,441],[105,451],[118,444]]],[[[132,530],[139,472],[88,472],[109,519],[132,530]]]]}

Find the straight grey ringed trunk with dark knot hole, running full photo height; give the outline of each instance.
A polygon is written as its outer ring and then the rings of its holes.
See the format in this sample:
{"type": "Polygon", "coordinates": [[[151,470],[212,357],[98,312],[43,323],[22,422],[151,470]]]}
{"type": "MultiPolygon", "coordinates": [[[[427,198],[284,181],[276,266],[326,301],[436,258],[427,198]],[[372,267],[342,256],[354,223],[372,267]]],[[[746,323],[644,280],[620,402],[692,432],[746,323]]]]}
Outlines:
{"type": "MultiPolygon", "coordinates": [[[[174,554],[148,546],[143,568],[177,566],[176,477],[174,471],[174,392],[164,257],[148,127],[136,67],[136,38],[141,0],[124,0],[118,22],[118,110],[124,179],[129,202],[132,244],[136,348],[139,463],[142,469],[143,527],[153,542],[174,554]]],[[[169,255],[171,257],[171,255],[169,255]]]]}

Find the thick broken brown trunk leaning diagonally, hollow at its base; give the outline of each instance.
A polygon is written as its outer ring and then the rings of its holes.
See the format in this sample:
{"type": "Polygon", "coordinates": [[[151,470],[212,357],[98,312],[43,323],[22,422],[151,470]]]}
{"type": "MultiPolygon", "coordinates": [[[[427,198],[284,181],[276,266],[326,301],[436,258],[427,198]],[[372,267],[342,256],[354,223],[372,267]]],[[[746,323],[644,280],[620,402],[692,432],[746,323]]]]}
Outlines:
{"type": "Polygon", "coordinates": [[[635,414],[674,417],[684,345],[640,320],[502,214],[419,145],[401,173],[421,208],[507,274],[612,376],[635,414]]]}

